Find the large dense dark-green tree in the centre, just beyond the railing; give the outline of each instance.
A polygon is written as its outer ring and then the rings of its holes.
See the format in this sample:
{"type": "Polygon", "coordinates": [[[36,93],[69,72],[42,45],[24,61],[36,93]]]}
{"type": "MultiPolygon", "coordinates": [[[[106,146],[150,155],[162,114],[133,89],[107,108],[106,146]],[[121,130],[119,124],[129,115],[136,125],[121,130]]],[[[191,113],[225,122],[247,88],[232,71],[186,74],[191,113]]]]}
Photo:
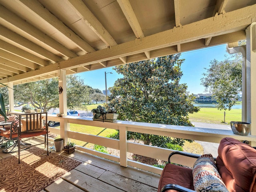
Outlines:
{"type": "MultiPolygon", "coordinates": [[[[124,77],[110,88],[108,105],[116,108],[120,120],[193,126],[188,114],[198,112],[198,108],[193,106],[194,96],[188,94],[186,84],[179,84],[184,61],[179,57],[175,54],[114,68],[124,77]]],[[[170,142],[161,136],[129,134],[155,146],[166,147],[170,142]]]]}

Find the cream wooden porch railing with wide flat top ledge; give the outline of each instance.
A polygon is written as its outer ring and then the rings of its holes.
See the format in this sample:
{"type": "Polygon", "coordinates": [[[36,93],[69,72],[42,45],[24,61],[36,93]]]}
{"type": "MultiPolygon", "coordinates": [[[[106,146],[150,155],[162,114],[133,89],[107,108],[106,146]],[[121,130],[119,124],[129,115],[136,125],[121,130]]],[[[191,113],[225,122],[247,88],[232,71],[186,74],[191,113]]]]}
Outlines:
{"type": "MultiPolygon", "coordinates": [[[[49,127],[50,133],[64,135],[65,139],[72,138],[80,140],[83,142],[88,142],[92,144],[98,144],[101,146],[106,146],[109,148],[120,150],[120,157],[113,156],[110,154],[105,154],[89,148],[82,146],[76,146],[76,150],[87,152],[102,158],[120,162],[121,166],[133,166],[140,168],[142,170],[150,171],[156,174],[161,174],[162,169],[154,166],[149,166],[127,159],[127,153],[134,153],[142,156],[147,156],[150,158],[156,158],[159,160],[168,161],[168,155],[172,150],[159,148],[155,146],[148,146],[144,144],[138,144],[133,142],[128,142],[126,139],[127,131],[140,132],[145,134],[154,134],[161,136],[170,136],[175,138],[183,138],[190,140],[199,140],[206,142],[219,143],[224,137],[232,137],[238,140],[247,140],[251,142],[253,146],[256,144],[256,136],[240,136],[235,135],[231,130],[220,130],[220,129],[209,129],[209,128],[197,128],[197,127],[186,127],[186,126],[174,126],[165,124],[150,124],[141,122],[129,122],[129,121],[117,121],[117,122],[100,122],[93,121],[92,118],[82,118],[82,117],[56,117],[53,115],[48,115],[48,120],[53,120],[60,122],[60,129],[49,127]],[[74,132],[68,130],[68,123],[96,126],[102,128],[116,129],[120,131],[120,140],[105,138],[102,136],[84,134],[80,132],[74,132]]],[[[187,166],[192,166],[194,161],[190,158],[172,158],[174,163],[184,164],[187,166]]]]}

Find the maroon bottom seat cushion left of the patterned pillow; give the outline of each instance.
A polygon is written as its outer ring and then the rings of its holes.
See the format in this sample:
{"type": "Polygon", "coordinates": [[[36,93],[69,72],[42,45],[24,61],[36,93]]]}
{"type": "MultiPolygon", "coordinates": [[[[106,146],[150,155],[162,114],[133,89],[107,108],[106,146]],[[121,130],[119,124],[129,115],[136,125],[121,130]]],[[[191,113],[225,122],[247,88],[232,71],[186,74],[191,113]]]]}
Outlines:
{"type": "MultiPolygon", "coordinates": [[[[178,184],[194,190],[192,169],[170,163],[166,164],[158,184],[158,192],[160,192],[162,187],[166,184],[178,184]]],[[[168,192],[173,191],[176,190],[168,190],[168,192]]]]}

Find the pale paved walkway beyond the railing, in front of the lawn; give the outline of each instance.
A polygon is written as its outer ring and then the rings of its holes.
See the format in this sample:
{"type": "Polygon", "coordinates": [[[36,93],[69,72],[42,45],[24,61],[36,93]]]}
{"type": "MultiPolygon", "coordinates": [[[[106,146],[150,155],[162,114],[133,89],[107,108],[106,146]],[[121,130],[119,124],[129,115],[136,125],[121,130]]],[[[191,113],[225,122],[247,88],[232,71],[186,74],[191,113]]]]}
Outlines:
{"type": "MultiPolygon", "coordinates": [[[[195,127],[203,127],[203,128],[211,128],[211,129],[225,129],[231,130],[230,125],[228,124],[210,124],[210,123],[201,123],[201,122],[192,122],[195,127]]],[[[210,143],[204,141],[196,141],[197,143],[201,144],[204,148],[204,154],[212,154],[212,156],[218,156],[218,143],[210,143]]]]}

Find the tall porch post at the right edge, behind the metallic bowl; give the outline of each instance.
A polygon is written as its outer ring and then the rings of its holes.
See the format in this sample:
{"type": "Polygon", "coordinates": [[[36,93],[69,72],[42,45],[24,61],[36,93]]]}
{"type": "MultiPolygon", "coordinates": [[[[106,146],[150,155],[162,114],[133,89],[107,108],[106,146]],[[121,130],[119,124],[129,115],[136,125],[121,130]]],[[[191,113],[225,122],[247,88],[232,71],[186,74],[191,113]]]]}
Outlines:
{"type": "MultiPolygon", "coordinates": [[[[246,90],[247,122],[251,122],[251,134],[256,135],[256,22],[246,29],[246,90]]],[[[256,146],[256,142],[252,143],[256,146]]]]}

